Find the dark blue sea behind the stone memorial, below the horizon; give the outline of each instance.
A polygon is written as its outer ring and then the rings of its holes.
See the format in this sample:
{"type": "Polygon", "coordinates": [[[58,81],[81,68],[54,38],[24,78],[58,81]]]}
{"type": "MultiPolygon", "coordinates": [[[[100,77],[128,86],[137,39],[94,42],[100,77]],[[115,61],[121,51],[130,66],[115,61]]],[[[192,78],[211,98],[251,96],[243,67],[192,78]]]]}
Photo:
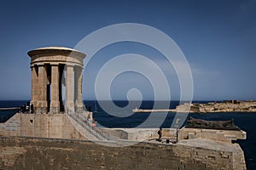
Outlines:
{"type": "MultiPolygon", "coordinates": [[[[20,107],[26,105],[27,100],[0,100],[0,108],[6,107],[20,107]]],[[[194,101],[193,103],[207,103],[209,101],[194,101]]],[[[147,122],[150,118],[150,113],[136,113],[132,112],[132,109],[152,109],[154,105],[166,105],[166,101],[142,101],[140,105],[137,105],[137,101],[94,101],[84,100],[87,110],[93,111],[93,116],[97,121],[97,126],[101,127],[164,127],[170,128],[172,126],[172,120],[174,119],[175,113],[157,113],[154,114],[154,121],[147,122]],[[113,106],[114,105],[114,106],[113,106]]],[[[169,109],[174,109],[180,104],[179,101],[167,101],[169,109]]],[[[183,102],[182,102],[183,103],[183,102]]],[[[160,108],[157,108],[160,109],[160,108]]],[[[163,108],[161,108],[163,109],[163,108]]],[[[166,108],[164,108],[166,109],[166,108]]],[[[0,111],[0,122],[6,122],[11,116],[14,116],[18,110],[0,111]]],[[[256,170],[256,112],[246,113],[189,113],[189,116],[194,118],[200,118],[204,120],[212,121],[224,121],[233,119],[236,126],[240,127],[241,130],[247,132],[246,140],[237,140],[236,143],[241,145],[241,149],[244,151],[247,169],[256,170]]],[[[187,117],[187,119],[189,118],[187,117]]],[[[183,123],[183,126],[186,121],[183,123]]]]}

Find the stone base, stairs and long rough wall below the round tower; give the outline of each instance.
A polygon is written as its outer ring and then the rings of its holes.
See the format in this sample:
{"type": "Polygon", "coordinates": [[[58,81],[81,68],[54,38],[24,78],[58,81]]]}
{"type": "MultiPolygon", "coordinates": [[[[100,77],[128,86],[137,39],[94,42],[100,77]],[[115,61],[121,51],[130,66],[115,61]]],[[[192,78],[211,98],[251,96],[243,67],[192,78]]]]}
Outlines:
{"type": "MultiPolygon", "coordinates": [[[[245,139],[243,131],[230,139],[228,131],[183,128],[177,144],[166,144],[150,140],[157,130],[88,127],[76,114],[17,113],[0,123],[0,169],[246,169],[241,147],[231,143],[245,139]]],[[[163,129],[164,139],[176,135],[163,129]]]]}

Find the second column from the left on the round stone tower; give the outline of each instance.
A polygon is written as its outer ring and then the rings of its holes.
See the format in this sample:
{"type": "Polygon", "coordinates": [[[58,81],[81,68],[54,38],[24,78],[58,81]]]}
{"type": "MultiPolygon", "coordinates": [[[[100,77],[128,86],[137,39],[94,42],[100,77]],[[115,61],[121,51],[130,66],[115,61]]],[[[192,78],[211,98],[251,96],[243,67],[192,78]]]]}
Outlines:
{"type": "Polygon", "coordinates": [[[47,82],[46,66],[38,65],[38,104],[36,107],[41,110],[41,113],[47,113],[47,82]]]}

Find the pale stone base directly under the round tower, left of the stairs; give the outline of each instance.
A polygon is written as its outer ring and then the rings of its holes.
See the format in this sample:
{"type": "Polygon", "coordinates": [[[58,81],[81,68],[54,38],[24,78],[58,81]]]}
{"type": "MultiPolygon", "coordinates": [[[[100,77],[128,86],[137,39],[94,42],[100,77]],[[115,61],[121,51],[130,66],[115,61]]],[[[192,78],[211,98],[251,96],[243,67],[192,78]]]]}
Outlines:
{"type": "Polygon", "coordinates": [[[0,123],[0,136],[26,136],[53,139],[85,139],[66,114],[17,113],[0,123]]]}

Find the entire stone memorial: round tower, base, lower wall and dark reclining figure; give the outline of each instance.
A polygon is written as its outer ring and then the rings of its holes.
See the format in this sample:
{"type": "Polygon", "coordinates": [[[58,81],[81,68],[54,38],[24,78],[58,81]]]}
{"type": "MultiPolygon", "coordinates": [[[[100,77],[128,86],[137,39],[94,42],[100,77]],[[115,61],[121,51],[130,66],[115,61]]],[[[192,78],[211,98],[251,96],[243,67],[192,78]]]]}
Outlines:
{"type": "Polygon", "coordinates": [[[34,111],[0,123],[1,169],[246,169],[234,141],[247,134],[234,122],[191,118],[163,128],[161,142],[158,128],[93,127],[82,99],[85,54],[47,47],[28,55],[34,111]]]}

